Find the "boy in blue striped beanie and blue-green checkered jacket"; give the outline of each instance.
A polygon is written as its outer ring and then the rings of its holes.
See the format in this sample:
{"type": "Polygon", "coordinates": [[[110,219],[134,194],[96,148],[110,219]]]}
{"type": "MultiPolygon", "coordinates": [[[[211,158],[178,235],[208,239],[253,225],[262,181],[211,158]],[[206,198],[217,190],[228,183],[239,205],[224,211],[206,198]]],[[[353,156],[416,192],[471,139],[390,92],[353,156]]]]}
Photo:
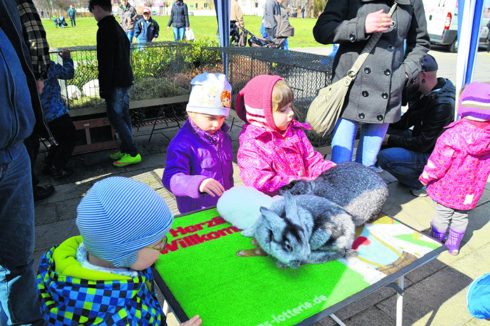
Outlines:
{"type": "MultiPolygon", "coordinates": [[[[49,325],[165,325],[150,266],[172,221],[147,185],[119,176],[96,182],[77,207],[81,236],[51,248],[39,263],[49,325]]],[[[185,325],[200,323],[195,316],[185,325]]]]}

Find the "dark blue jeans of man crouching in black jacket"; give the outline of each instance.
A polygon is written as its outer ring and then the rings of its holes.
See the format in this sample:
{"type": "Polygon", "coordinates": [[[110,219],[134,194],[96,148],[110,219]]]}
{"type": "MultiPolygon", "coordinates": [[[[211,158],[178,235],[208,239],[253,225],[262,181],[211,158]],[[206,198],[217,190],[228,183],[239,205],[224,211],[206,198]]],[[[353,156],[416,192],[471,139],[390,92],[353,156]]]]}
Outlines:
{"type": "MultiPolygon", "coordinates": [[[[410,136],[410,130],[388,129],[388,134],[410,136]]],[[[418,180],[427,164],[431,152],[415,152],[404,148],[393,147],[385,149],[378,154],[378,165],[398,179],[400,183],[415,189],[421,189],[422,183],[418,180]]]]}

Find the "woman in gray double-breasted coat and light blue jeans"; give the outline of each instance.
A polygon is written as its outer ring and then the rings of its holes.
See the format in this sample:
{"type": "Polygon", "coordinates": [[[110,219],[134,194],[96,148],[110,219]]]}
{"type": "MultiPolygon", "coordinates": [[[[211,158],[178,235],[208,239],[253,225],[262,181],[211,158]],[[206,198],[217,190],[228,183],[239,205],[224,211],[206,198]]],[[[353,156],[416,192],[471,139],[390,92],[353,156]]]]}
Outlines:
{"type": "Polygon", "coordinates": [[[313,28],[322,44],[339,43],[332,83],[352,67],[369,37],[383,32],[353,80],[332,139],[332,161],[352,160],[358,123],[356,162],[373,167],[390,123],[400,120],[401,95],[421,71],[430,49],[422,0],[328,0],[313,28]],[[404,41],[406,40],[406,49],[404,41]]]}

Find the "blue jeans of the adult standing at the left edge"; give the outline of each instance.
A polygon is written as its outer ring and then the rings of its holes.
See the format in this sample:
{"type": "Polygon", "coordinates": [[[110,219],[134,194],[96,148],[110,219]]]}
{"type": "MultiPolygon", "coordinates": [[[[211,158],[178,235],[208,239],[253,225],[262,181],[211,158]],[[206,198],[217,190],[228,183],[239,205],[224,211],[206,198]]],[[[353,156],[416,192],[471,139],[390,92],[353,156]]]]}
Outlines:
{"type": "MultiPolygon", "coordinates": [[[[24,147],[24,145],[23,145],[24,147]]],[[[0,164],[0,325],[47,325],[36,291],[29,155],[0,164]]]]}

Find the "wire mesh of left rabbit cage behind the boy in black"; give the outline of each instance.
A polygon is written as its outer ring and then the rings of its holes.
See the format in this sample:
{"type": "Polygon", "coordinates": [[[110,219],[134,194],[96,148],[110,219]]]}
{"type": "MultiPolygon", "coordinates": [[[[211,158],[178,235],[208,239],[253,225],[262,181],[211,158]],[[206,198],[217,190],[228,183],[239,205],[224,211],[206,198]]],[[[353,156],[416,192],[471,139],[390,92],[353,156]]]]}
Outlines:
{"type": "MultiPolygon", "coordinates": [[[[73,79],[59,80],[61,94],[68,109],[104,106],[98,91],[98,61],[96,46],[75,46],[72,52],[75,74],[73,79]]],[[[61,48],[50,49],[51,60],[63,64],[61,48]]],[[[153,42],[131,44],[131,66],[134,87],[129,101],[169,98],[190,93],[193,75],[191,44],[153,42]]],[[[115,67],[117,69],[117,67],[115,67]]]]}

